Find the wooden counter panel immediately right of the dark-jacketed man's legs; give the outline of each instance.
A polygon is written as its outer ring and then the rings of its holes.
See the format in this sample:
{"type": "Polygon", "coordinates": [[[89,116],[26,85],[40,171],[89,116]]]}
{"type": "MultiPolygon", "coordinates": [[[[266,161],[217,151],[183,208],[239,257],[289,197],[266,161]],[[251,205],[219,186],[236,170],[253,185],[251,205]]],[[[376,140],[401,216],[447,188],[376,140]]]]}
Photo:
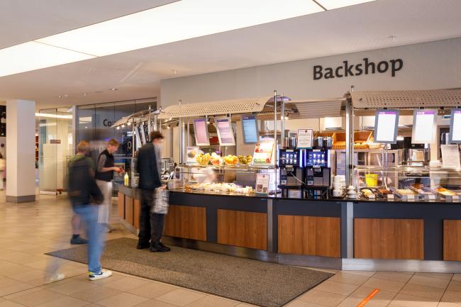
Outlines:
{"type": "Polygon", "coordinates": [[[170,205],[165,216],[165,235],[206,241],[206,208],[170,205]]]}

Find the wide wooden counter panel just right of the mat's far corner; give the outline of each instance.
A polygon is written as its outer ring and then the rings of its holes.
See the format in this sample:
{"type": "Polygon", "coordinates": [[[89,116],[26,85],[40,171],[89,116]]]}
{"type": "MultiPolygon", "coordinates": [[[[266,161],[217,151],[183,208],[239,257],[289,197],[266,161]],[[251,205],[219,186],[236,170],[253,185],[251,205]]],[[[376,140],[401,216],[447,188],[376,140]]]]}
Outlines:
{"type": "Polygon", "coordinates": [[[354,257],[424,259],[424,225],[420,219],[355,218],[354,257]]]}

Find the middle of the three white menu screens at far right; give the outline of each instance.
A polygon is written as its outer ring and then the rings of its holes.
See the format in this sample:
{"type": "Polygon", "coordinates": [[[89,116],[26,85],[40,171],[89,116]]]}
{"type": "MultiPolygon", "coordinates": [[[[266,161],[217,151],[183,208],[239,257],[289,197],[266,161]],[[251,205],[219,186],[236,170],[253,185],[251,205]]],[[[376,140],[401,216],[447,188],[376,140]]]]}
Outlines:
{"type": "Polygon", "coordinates": [[[434,140],[434,125],[437,110],[421,109],[413,111],[413,133],[411,143],[430,144],[434,140]]]}

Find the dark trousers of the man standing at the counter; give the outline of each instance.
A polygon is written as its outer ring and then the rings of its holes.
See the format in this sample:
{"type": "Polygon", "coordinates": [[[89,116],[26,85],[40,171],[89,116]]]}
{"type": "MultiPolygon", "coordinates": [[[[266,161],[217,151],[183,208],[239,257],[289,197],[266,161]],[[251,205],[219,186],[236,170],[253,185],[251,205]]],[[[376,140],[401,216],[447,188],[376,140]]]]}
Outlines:
{"type": "Polygon", "coordinates": [[[165,214],[151,213],[155,190],[141,190],[139,242],[155,245],[160,242],[165,225],[165,214]]]}

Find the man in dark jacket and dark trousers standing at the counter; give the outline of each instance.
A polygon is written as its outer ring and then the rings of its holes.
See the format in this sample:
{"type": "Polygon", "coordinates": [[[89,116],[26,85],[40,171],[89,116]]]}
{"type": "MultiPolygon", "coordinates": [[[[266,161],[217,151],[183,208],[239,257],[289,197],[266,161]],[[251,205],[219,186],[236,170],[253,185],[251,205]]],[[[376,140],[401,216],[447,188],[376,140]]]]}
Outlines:
{"type": "Polygon", "coordinates": [[[150,143],[138,152],[137,169],[141,189],[141,210],[139,216],[138,250],[150,247],[151,252],[168,252],[160,242],[165,225],[165,214],[151,213],[155,189],[164,189],[160,181],[160,143],[163,135],[158,131],[150,133],[150,143]]]}

